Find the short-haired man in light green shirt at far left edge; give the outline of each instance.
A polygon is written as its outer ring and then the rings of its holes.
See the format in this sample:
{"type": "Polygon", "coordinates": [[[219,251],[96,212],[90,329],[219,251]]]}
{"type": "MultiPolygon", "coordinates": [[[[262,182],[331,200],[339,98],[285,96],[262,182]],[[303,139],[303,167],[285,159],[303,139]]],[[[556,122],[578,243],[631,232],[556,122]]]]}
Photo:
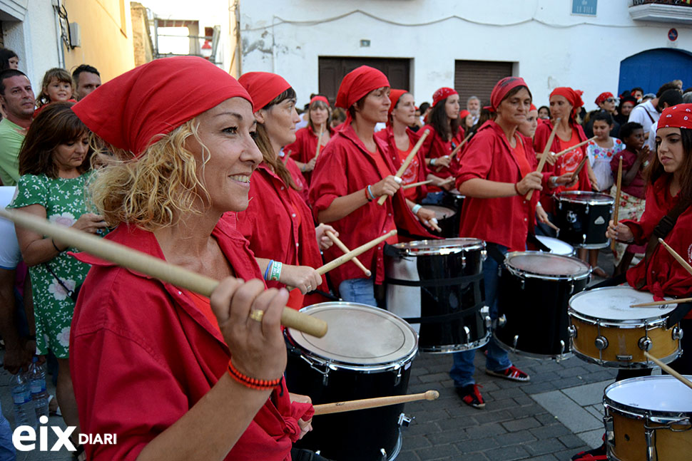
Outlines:
{"type": "Polygon", "coordinates": [[[14,186],[19,181],[19,149],[34,117],[34,90],[24,73],[16,69],[0,72],[0,103],[7,113],[0,121],[0,180],[14,186]]]}

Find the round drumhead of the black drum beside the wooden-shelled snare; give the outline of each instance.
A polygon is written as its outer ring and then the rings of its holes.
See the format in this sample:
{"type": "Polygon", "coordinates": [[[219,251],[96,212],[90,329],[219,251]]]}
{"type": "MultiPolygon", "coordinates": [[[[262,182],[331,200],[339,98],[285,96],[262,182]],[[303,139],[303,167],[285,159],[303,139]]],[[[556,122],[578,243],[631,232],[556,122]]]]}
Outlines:
{"type": "Polygon", "coordinates": [[[524,274],[547,277],[581,278],[591,273],[591,266],[581,259],[544,252],[513,252],[504,259],[507,268],[524,274]]]}

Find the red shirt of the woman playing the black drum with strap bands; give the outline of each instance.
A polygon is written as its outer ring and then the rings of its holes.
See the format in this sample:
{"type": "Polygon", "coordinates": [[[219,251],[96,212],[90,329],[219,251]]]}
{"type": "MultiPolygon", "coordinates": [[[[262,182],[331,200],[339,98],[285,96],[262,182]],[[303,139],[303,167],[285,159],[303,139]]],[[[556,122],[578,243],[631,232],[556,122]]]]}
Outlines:
{"type": "MultiPolygon", "coordinates": [[[[385,153],[387,145],[380,138],[375,138],[375,144],[377,152],[368,152],[365,144],[351,126],[343,128],[330,140],[325,151],[317,157],[317,165],[315,165],[310,183],[310,200],[315,217],[318,212],[330,207],[337,197],[344,197],[357,191],[363,193],[362,190],[365,187],[385,177],[377,167],[375,155],[380,155],[387,165],[387,175],[395,174],[392,160],[385,153]]],[[[387,199],[382,206],[373,200],[346,217],[329,224],[340,232],[340,239],[350,249],[360,247],[397,226],[424,238],[435,238],[428,234],[417,221],[402,194],[395,194],[393,199],[387,199]]],[[[376,284],[382,284],[385,279],[383,248],[384,246],[380,244],[358,257],[362,264],[375,274],[376,284]]],[[[343,254],[335,245],[324,253],[327,261],[343,254]]],[[[338,266],[329,274],[336,287],[344,280],[365,278],[365,274],[352,262],[338,266]]]]}

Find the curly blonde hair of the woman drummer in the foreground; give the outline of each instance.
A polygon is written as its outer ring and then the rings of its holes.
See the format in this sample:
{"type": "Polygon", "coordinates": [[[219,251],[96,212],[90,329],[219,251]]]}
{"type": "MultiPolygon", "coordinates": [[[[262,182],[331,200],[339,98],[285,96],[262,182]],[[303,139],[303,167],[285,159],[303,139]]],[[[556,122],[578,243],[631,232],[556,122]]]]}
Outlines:
{"type": "MultiPolygon", "coordinates": [[[[89,189],[108,226],[126,222],[154,231],[176,224],[182,214],[202,214],[198,203],[208,202],[209,194],[200,176],[210,152],[198,128],[197,120],[188,120],[138,158],[123,150],[105,150],[101,143],[94,162],[103,166],[96,167],[89,189]],[[202,165],[185,147],[190,137],[202,146],[202,165]]],[[[93,140],[93,147],[99,147],[98,141],[93,140]]]]}

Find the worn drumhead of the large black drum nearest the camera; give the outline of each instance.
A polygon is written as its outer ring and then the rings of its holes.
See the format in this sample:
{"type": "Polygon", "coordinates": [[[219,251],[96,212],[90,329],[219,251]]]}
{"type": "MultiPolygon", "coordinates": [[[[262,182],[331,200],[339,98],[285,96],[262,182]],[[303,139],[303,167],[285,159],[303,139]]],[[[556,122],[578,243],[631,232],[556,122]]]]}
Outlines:
{"type": "Polygon", "coordinates": [[[329,326],[322,338],[288,328],[297,346],[320,358],[370,366],[402,361],[418,350],[418,337],[413,328],[402,318],[377,307],[330,302],[300,311],[326,321],[329,326]]]}

